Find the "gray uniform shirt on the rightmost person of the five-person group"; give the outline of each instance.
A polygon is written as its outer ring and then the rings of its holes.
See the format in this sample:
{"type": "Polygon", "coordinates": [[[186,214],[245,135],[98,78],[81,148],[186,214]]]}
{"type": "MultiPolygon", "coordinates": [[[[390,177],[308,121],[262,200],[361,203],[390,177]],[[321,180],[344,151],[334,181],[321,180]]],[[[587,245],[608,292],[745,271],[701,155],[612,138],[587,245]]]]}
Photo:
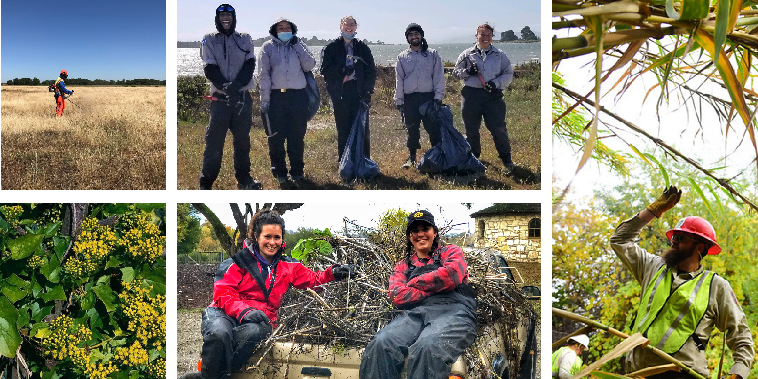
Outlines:
{"type": "Polygon", "coordinates": [[[481,51],[477,49],[476,45],[471,46],[471,49],[465,49],[458,56],[456,67],[453,68],[453,77],[463,80],[464,86],[484,88],[478,75],[468,75],[466,73],[468,67],[471,66],[471,62],[476,62],[481,76],[484,78],[484,83],[492,80],[497,89],[506,89],[513,81],[511,60],[508,59],[503,50],[497,49],[493,45],[490,45],[490,49],[484,57],[484,59],[481,58],[481,51]]]}

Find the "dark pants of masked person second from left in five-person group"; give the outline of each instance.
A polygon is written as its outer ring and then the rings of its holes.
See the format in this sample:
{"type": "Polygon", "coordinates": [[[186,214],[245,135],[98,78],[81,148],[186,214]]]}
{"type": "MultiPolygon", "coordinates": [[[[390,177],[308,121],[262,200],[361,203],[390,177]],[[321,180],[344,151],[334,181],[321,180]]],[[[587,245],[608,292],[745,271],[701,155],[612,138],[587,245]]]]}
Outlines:
{"type": "Polygon", "coordinates": [[[271,121],[271,133],[277,135],[268,139],[268,156],[271,158],[271,174],[274,177],[287,176],[287,155],[290,157],[290,174],[302,175],[305,166],[302,161],[302,151],[305,148],[303,139],[308,126],[307,107],[308,93],[305,89],[287,89],[287,92],[271,89],[268,120],[271,121]]]}

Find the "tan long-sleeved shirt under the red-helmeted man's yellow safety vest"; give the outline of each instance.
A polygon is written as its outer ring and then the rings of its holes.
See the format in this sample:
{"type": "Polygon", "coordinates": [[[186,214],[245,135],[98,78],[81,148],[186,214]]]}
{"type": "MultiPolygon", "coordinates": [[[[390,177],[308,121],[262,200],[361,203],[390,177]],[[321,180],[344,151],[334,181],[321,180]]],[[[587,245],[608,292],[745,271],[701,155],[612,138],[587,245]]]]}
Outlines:
{"type": "MultiPolygon", "coordinates": [[[[616,255],[622,260],[624,265],[631,271],[634,278],[642,285],[644,291],[650,280],[656,274],[656,271],[664,265],[663,259],[659,255],[653,255],[637,245],[636,240],[640,236],[640,231],[647,223],[641,218],[635,216],[630,220],[622,222],[616,228],[611,236],[611,247],[616,255]]],[[[684,281],[691,279],[703,271],[703,266],[696,271],[673,274],[674,281],[672,289],[678,287],[684,281]]],[[[634,312],[637,312],[635,309],[634,312]]],[[[716,275],[711,282],[711,291],[708,299],[708,308],[700,324],[695,328],[695,334],[700,341],[705,343],[709,340],[713,327],[722,326],[726,321],[726,344],[731,349],[731,356],[735,364],[731,366],[729,374],[738,374],[747,379],[750,374],[750,365],[753,364],[753,336],[750,334],[750,328],[747,327],[747,319],[742,311],[742,307],[731,290],[729,282],[723,277],[716,275]]],[[[697,371],[704,377],[709,377],[705,352],[697,349],[692,338],[689,338],[684,346],[676,352],[673,357],[680,360],[684,365],[697,371]]],[[[627,372],[637,371],[655,365],[666,365],[669,362],[656,356],[650,350],[637,347],[628,352],[624,365],[627,372]]]]}

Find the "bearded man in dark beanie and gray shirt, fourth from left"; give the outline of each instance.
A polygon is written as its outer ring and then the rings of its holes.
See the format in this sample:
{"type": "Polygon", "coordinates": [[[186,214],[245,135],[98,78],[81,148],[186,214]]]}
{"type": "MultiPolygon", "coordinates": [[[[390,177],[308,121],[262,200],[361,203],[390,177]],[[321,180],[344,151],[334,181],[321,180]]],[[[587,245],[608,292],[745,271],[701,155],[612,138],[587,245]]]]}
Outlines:
{"type": "Polygon", "coordinates": [[[429,133],[431,146],[440,143],[439,127],[428,118],[423,117],[418,107],[433,101],[434,109],[442,108],[445,97],[445,70],[442,58],[434,49],[429,49],[424,30],[418,23],[409,23],[406,27],[408,49],[397,55],[395,64],[395,104],[404,115],[408,129],[408,159],[401,168],[411,168],[416,164],[416,150],[421,149],[421,121],[429,133]]]}

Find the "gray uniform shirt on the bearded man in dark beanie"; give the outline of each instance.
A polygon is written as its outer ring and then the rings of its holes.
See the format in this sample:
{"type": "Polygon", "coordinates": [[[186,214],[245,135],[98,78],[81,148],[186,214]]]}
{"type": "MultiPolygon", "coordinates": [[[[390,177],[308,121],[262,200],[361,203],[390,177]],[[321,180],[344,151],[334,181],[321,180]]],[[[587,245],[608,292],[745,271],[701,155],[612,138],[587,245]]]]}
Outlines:
{"type": "Polygon", "coordinates": [[[408,48],[397,55],[395,64],[395,103],[403,104],[404,95],[413,92],[434,92],[435,100],[445,97],[445,70],[442,58],[434,49],[408,48]]]}

